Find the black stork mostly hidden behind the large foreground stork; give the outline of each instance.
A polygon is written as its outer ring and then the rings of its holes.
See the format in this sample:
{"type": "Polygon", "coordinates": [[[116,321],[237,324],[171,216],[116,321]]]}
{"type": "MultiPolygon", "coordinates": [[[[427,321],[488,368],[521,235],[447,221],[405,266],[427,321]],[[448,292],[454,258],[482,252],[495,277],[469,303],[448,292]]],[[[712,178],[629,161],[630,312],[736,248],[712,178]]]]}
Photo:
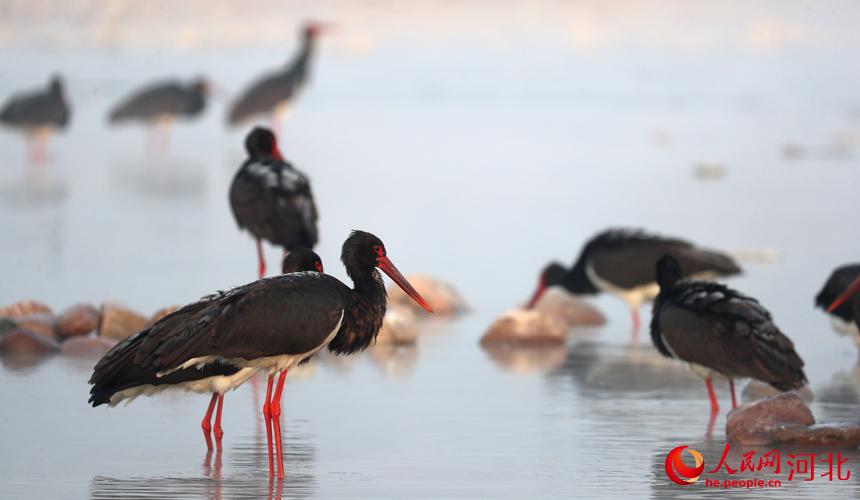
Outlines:
{"type": "MultiPolygon", "coordinates": [[[[284,274],[303,271],[323,272],[322,261],[314,252],[301,249],[284,257],[284,274]]],[[[213,433],[212,412],[217,403],[215,414],[215,445],[221,449],[221,438],[224,430],[221,428],[221,413],[224,408],[224,393],[242,385],[257,371],[256,368],[243,368],[237,364],[215,360],[212,363],[188,367],[173,371],[167,375],[159,375],[153,367],[142,367],[136,362],[138,349],[150,335],[162,331],[174,331],[181,325],[196,317],[195,315],[211,306],[224,294],[217,293],[204,297],[199,302],[185,306],[174,313],[165,316],[151,327],[129,337],[114,346],[96,364],[90,384],[90,400],[93,407],[109,404],[116,406],[123,400],[133,400],[139,395],[152,395],[165,389],[185,389],[199,393],[212,393],[209,407],[203,416],[201,427],[206,447],[212,449],[213,433]]],[[[269,431],[271,432],[271,430],[269,431]]]]}

